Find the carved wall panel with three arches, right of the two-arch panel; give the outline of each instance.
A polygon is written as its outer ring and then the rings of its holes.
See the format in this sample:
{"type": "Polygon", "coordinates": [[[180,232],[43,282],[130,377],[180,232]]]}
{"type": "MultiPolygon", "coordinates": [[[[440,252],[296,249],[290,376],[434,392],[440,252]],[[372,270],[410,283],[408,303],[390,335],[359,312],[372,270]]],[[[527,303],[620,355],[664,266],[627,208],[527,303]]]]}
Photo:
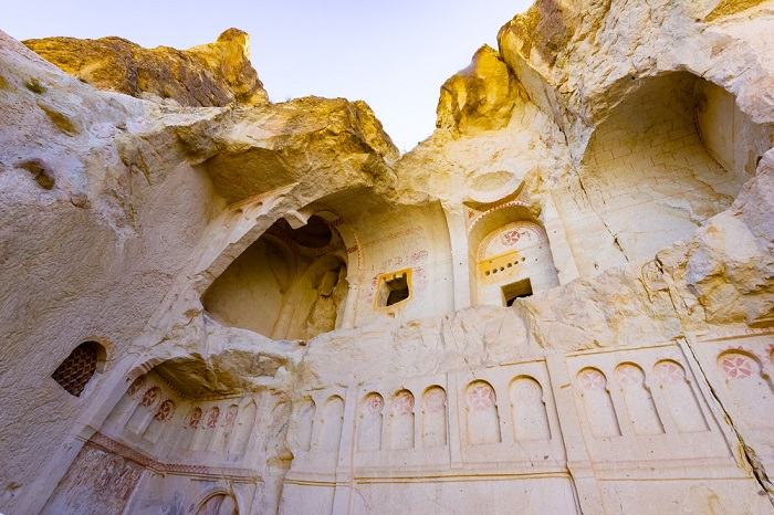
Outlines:
{"type": "Polygon", "coordinates": [[[735,466],[690,362],[677,344],[567,356],[584,442],[599,469],[618,463],[647,474],[636,464],[653,462],[658,475],[703,460],[735,466]]]}

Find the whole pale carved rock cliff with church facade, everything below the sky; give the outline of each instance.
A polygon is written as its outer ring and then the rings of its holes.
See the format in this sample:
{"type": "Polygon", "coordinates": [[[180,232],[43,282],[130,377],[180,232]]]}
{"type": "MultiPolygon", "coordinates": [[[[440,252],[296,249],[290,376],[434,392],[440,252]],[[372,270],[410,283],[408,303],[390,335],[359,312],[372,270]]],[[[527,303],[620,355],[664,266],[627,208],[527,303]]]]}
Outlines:
{"type": "Polygon", "coordinates": [[[774,512],[773,29],[538,1],[404,156],[237,30],[2,34],[0,512],[774,512]]]}

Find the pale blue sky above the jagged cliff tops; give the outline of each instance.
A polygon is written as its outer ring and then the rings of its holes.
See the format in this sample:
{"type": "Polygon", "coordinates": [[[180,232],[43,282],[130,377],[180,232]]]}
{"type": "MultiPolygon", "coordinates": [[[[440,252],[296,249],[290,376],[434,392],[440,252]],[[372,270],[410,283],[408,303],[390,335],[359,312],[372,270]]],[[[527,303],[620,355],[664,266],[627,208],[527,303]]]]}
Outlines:
{"type": "Polygon", "coordinates": [[[119,35],[187,49],[236,27],[274,102],[305,95],[364,99],[401,150],[430,136],[441,84],[529,0],[14,1],[2,29],[19,40],[119,35]],[[116,6],[116,7],[113,7],[116,6]]]}

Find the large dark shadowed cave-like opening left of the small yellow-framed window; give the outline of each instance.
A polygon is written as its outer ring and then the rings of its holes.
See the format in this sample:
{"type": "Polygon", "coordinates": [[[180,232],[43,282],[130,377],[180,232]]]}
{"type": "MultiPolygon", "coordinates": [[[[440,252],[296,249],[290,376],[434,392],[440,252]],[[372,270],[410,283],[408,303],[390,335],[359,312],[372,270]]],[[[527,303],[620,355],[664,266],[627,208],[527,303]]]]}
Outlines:
{"type": "Polygon", "coordinates": [[[292,229],[280,219],[202,296],[223,325],[274,339],[308,339],[342,325],[347,302],[346,242],[326,213],[292,229]]]}

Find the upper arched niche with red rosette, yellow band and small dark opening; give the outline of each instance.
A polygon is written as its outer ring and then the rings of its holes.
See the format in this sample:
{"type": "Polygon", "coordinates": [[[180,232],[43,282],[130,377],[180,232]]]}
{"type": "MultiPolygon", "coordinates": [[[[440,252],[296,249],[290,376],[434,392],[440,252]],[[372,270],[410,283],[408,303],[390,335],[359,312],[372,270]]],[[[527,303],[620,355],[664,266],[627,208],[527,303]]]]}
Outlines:
{"type": "Polygon", "coordinates": [[[471,228],[469,249],[473,304],[510,306],[559,285],[548,237],[525,206],[485,213],[471,228]]]}

